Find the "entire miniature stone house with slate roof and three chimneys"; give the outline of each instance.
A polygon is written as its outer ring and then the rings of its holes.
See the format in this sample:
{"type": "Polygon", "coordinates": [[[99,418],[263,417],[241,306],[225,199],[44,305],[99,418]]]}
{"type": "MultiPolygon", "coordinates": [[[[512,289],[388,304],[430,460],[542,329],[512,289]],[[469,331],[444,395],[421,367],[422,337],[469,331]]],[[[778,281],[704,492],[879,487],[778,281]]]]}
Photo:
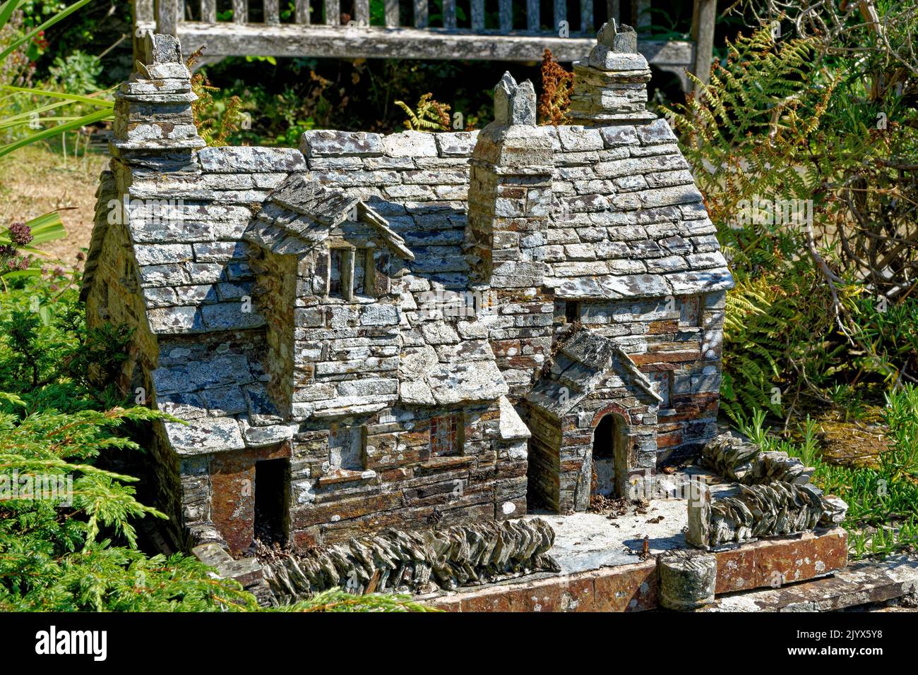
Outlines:
{"type": "Polygon", "coordinates": [[[93,325],[180,545],[587,509],[715,434],[732,278],[645,110],[635,34],[575,64],[575,125],[509,74],[480,132],[206,148],[174,39],[117,94],[86,263],[93,325]]]}

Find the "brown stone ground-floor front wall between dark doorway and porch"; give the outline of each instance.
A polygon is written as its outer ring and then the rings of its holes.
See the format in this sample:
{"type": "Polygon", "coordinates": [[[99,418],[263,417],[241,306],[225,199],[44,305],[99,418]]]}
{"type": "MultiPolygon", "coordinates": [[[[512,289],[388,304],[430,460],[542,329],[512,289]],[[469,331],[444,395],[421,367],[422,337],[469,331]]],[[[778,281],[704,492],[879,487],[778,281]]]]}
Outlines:
{"type": "Polygon", "coordinates": [[[498,405],[464,410],[396,406],[341,421],[363,426],[363,469],[331,470],[329,430],[307,423],[292,441],[291,528],[296,548],[383,527],[518,517],[526,511],[525,439],[501,436],[498,405]],[[431,452],[431,417],[461,415],[462,445],[431,452]]]}

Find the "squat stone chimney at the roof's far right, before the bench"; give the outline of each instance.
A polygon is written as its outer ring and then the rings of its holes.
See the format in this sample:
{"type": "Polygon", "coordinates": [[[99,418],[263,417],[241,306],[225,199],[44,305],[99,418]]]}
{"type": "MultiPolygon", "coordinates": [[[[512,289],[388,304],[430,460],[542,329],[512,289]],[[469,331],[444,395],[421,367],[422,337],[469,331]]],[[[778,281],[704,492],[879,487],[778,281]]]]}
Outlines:
{"type": "Polygon", "coordinates": [[[571,124],[584,127],[654,120],[647,111],[650,67],[637,51],[630,26],[603,24],[597,44],[584,61],[574,61],[571,124]]]}

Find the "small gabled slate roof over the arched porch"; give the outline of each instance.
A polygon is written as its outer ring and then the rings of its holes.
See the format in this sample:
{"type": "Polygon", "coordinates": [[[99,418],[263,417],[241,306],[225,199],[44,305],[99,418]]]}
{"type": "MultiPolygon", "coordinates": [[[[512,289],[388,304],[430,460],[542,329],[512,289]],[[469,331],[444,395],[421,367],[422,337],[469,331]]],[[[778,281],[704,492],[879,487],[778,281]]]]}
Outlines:
{"type": "Polygon", "coordinates": [[[560,417],[586,398],[610,371],[622,384],[632,384],[657,402],[663,400],[621,347],[591,330],[581,330],[561,345],[548,373],[536,382],[526,400],[560,417]]]}

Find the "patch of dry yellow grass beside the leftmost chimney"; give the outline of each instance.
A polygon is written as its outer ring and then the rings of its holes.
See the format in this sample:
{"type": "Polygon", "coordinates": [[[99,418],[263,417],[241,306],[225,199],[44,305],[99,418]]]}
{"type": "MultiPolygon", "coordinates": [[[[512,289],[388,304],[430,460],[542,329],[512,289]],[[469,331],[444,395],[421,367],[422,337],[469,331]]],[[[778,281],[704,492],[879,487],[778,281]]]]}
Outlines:
{"type": "Polygon", "coordinates": [[[53,258],[73,264],[80,249],[89,246],[95,214],[95,188],[106,168],[104,150],[64,160],[60,149],[34,145],[0,159],[0,226],[41,216],[55,209],[67,237],[42,247],[53,258]]]}

